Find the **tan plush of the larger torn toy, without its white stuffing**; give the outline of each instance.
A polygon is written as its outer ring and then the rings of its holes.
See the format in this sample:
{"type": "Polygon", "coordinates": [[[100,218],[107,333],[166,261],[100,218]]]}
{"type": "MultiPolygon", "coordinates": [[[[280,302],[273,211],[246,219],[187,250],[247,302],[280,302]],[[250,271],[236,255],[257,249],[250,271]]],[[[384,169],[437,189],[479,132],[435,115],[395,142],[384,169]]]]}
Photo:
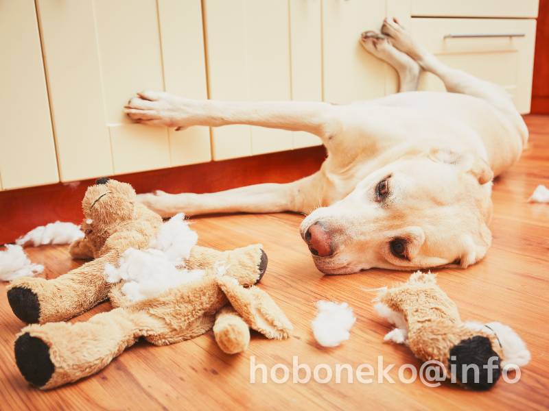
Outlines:
{"type": "Polygon", "coordinates": [[[85,322],[33,324],[21,330],[14,347],[16,363],[25,379],[39,388],[54,388],[100,371],[139,337],[154,345],[178,343],[204,334],[215,323],[220,348],[237,353],[248,347],[248,327],[268,338],[290,335],[290,321],[266,292],[244,288],[256,284],[265,271],[260,245],[232,251],[195,246],[181,266],[202,269],[204,275],[142,301],[130,301],[120,283],[106,283],[105,264],[117,265],[129,247],[147,247],[162,223],[134,200],[128,184],[108,180],[90,187],[82,202],[86,237],[71,245],[71,255],[95,260],[56,279],[22,278],[10,286],[10,292],[19,293],[10,300],[14,312],[31,317],[32,310],[23,302],[32,306],[38,301],[39,323],[68,319],[107,297],[115,308],[85,322]]]}

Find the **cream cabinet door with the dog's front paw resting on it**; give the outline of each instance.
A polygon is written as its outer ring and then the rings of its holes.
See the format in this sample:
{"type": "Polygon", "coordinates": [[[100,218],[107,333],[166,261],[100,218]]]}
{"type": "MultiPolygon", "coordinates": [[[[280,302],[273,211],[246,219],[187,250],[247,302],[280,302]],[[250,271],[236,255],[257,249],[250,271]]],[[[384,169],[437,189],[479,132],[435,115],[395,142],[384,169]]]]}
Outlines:
{"type": "Polygon", "coordinates": [[[37,0],[62,181],[210,159],[209,130],[133,124],[139,90],[205,98],[200,0],[37,0]]]}

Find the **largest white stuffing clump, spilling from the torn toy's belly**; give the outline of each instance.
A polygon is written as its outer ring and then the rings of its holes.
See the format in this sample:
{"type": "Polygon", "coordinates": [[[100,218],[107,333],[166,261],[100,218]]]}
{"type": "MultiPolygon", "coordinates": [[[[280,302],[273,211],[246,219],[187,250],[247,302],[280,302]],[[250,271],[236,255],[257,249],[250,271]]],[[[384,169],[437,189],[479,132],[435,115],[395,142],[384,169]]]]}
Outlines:
{"type": "Polygon", "coordinates": [[[196,245],[198,234],[189,228],[184,214],[177,214],[165,222],[158,236],[144,250],[127,249],[119,260],[119,266],[106,264],[106,281],[123,281],[121,292],[131,301],[139,301],[200,279],[203,270],[185,270],[177,267],[189,258],[196,245]]]}

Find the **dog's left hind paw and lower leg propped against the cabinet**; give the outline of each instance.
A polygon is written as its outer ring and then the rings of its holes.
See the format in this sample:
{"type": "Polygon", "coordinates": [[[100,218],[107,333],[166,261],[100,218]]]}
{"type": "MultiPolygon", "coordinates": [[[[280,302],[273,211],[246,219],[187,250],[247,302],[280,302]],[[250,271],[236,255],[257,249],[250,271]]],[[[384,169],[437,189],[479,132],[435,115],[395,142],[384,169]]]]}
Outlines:
{"type": "Polygon", "coordinates": [[[421,67],[409,55],[397,50],[384,34],[369,31],[360,36],[360,44],[375,57],[393,66],[399,74],[399,92],[415,91],[421,67]]]}

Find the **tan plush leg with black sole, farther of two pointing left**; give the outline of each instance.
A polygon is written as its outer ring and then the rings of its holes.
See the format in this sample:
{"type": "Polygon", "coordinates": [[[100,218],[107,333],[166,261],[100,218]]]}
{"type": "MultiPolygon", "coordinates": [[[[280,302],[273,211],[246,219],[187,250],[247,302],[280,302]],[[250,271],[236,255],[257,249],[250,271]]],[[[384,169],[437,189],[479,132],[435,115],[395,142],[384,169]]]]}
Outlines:
{"type": "Polygon", "coordinates": [[[15,279],[8,286],[10,306],[25,323],[70,319],[107,298],[111,284],[104,279],[104,267],[118,258],[118,253],[111,251],[55,279],[15,279]]]}

